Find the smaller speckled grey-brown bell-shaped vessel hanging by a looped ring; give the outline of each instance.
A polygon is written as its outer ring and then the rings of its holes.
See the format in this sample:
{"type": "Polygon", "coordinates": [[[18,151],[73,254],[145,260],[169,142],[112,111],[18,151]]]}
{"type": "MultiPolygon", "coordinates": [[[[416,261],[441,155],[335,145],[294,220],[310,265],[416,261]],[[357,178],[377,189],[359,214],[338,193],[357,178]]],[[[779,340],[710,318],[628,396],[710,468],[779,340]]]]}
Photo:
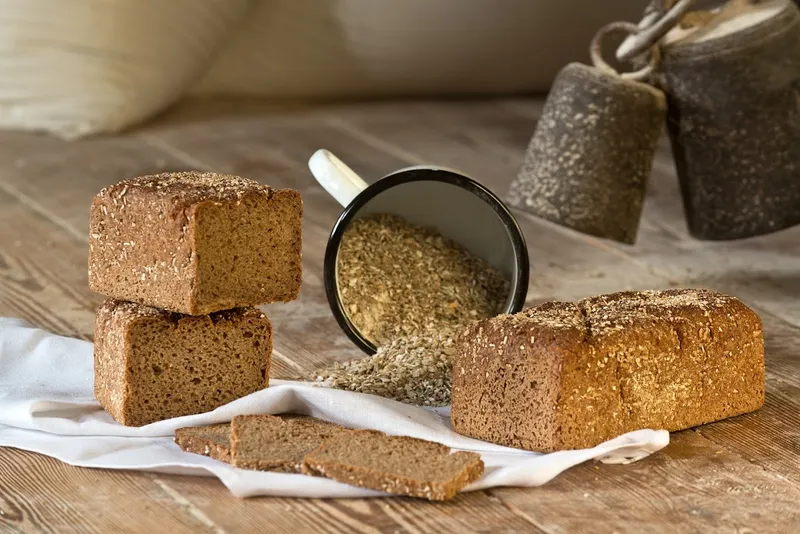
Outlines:
{"type": "Polygon", "coordinates": [[[632,33],[633,24],[601,29],[594,65],[571,63],[553,82],[509,203],[562,226],[623,243],[639,227],[653,154],[664,128],[664,93],[641,80],[649,66],[618,73],[600,56],[604,35],[632,33]]]}

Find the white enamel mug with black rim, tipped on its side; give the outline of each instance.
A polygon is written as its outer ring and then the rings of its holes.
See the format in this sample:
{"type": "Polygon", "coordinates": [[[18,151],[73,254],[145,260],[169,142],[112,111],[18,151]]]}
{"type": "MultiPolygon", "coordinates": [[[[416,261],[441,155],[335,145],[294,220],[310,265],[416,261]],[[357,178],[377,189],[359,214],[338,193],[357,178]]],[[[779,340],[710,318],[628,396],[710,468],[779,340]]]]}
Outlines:
{"type": "Polygon", "coordinates": [[[324,149],[311,156],[308,167],[344,208],[325,250],[323,278],[328,303],[347,336],[368,354],[375,353],[375,344],[350,320],[336,274],[342,234],[358,217],[390,213],[435,229],[483,258],[511,282],[503,313],[522,309],[530,269],[525,238],[505,204],[483,185],[459,172],[433,166],[400,169],[368,185],[324,149]]]}

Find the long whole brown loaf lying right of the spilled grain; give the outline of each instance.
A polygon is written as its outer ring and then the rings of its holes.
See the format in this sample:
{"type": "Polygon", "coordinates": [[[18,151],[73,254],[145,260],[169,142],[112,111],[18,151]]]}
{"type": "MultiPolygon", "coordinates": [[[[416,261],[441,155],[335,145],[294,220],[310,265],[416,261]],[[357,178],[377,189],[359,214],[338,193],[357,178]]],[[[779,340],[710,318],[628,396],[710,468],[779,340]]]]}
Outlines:
{"type": "Polygon", "coordinates": [[[475,323],[453,367],[452,424],[550,452],[682,430],[764,403],[761,320],[702,289],[551,302],[475,323]]]}

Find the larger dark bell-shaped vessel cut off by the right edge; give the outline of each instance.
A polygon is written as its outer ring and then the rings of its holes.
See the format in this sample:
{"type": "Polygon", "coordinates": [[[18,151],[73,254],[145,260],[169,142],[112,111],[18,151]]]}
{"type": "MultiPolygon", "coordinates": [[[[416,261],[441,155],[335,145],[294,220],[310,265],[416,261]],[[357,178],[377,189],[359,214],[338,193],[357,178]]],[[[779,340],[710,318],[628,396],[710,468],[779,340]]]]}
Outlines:
{"type": "Polygon", "coordinates": [[[790,0],[738,4],[670,32],[657,75],[700,239],[800,224],[800,11],[790,0]]]}

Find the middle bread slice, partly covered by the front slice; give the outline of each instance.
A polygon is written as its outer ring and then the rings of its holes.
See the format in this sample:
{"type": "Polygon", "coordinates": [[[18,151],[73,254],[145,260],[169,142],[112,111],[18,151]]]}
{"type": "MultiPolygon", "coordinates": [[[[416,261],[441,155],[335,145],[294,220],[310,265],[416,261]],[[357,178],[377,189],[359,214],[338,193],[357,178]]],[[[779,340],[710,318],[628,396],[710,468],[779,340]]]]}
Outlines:
{"type": "Polygon", "coordinates": [[[300,473],[305,455],[349,429],[299,415],[239,415],[231,421],[231,464],[242,469],[300,473]]]}

